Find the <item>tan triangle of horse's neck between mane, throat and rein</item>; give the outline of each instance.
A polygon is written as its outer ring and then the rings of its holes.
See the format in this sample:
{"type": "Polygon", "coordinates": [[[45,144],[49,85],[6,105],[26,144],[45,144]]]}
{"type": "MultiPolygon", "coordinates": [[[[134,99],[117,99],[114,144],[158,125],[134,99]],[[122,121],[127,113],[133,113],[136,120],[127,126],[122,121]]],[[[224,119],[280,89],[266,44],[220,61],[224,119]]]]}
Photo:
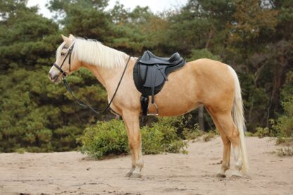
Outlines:
{"type": "Polygon", "coordinates": [[[113,90],[113,87],[117,85],[124,67],[120,68],[102,68],[98,65],[89,65],[87,63],[82,63],[82,67],[87,68],[96,77],[99,82],[106,88],[108,92],[113,90]]]}

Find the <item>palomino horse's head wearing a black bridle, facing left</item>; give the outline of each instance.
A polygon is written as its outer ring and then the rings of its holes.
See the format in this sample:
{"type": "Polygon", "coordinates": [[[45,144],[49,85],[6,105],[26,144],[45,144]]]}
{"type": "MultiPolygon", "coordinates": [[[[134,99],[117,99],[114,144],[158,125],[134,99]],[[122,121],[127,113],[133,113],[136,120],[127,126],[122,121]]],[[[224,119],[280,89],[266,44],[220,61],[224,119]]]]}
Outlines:
{"type": "Polygon", "coordinates": [[[65,37],[61,34],[63,43],[58,46],[56,52],[56,62],[49,71],[49,79],[52,82],[59,82],[61,77],[72,73],[78,69],[76,61],[73,61],[72,52],[75,45],[75,37],[70,34],[69,37],[65,37]]]}

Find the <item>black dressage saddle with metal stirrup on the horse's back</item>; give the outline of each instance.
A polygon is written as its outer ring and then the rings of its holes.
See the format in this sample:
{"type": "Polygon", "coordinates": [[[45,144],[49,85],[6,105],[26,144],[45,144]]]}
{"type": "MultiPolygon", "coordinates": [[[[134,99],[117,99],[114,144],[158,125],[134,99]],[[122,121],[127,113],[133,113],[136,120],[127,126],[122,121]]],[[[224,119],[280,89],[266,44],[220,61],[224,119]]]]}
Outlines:
{"type": "Polygon", "coordinates": [[[182,68],[185,63],[185,59],[177,52],[170,58],[161,58],[151,51],[145,51],[144,55],[137,59],[133,69],[133,79],[137,90],[142,93],[140,101],[144,115],[158,115],[154,96],[163,89],[163,85],[168,81],[168,75],[182,68]],[[149,96],[151,96],[150,104],[149,96]],[[149,113],[151,105],[156,107],[156,113],[149,113]]]}

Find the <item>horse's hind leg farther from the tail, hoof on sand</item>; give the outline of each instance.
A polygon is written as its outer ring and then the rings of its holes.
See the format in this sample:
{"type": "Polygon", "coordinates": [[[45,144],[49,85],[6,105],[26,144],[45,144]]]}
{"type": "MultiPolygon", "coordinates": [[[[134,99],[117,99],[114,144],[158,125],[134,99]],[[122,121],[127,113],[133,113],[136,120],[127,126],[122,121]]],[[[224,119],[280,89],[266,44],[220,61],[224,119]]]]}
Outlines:
{"type": "Polygon", "coordinates": [[[225,134],[216,116],[214,116],[215,114],[213,113],[213,111],[211,111],[211,108],[206,107],[206,110],[211,115],[213,123],[215,123],[217,130],[220,132],[220,137],[223,141],[223,161],[220,167],[220,171],[217,174],[217,177],[226,177],[225,172],[230,168],[231,141],[225,134]]]}

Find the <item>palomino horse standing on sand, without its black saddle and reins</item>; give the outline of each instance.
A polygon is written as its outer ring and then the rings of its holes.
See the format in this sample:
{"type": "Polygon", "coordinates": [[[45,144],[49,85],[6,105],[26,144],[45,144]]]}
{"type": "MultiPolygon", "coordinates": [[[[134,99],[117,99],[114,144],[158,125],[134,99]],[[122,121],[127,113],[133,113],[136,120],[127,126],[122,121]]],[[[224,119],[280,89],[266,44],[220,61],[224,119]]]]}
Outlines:
{"type": "MultiPolygon", "coordinates": [[[[104,46],[100,42],[64,37],[56,52],[56,65],[63,65],[66,73],[87,68],[108,92],[108,101],[116,90],[118,81],[127,63],[127,54],[104,46]],[[73,46],[74,44],[74,46],[73,46]],[[72,49],[72,50],[70,50],[72,49]],[[66,54],[70,53],[70,58],[66,54]],[[72,56],[71,56],[72,54],[72,56]]],[[[142,177],[142,140],[139,132],[141,94],[133,81],[133,67],[137,58],[130,58],[111,109],[122,116],[132,154],[132,166],[127,177],[142,177]]],[[[52,82],[61,80],[62,74],[56,66],[49,71],[52,82]]],[[[225,177],[230,168],[231,144],[235,155],[235,175],[248,170],[247,150],[244,138],[244,115],[238,77],[229,65],[209,59],[187,63],[171,73],[168,82],[156,95],[160,116],[176,116],[188,113],[203,105],[213,118],[223,141],[223,162],[218,177],[225,177]]],[[[155,112],[154,110],[151,112],[155,112]]]]}

